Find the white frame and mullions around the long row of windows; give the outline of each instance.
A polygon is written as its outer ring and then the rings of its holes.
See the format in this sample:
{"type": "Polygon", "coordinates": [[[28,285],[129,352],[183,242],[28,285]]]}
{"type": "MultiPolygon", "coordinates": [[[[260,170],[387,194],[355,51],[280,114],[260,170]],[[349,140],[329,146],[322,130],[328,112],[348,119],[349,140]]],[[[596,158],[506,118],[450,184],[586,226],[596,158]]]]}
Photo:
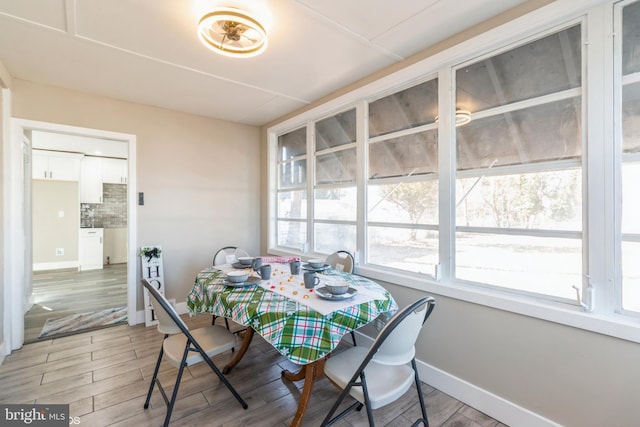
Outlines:
{"type": "MultiPolygon", "coordinates": [[[[303,123],[320,120],[329,112],[345,110],[353,106],[357,107],[358,137],[357,158],[358,178],[358,215],[357,238],[358,251],[366,248],[364,236],[367,218],[363,206],[366,206],[366,195],[363,188],[366,186],[366,102],[385,94],[402,90],[415,81],[424,79],[427,75],[438,77],[438,109],[439,121],[439,226],[440,236],[440,260],[435,277],[424,274],[413,274],[403,271],[389,271],[375,266],[360,263],[357,265],[359,274],[371,277],[374,280],[393,283],[397,286],[432,292],[446,297],[461,299],[464,301],[485,305],[500,310],[506,310],[525,316],[540,318],[560,324],[573,326],[597,333],[602,333],[634,342],[640,342],[640,317],[636,313],[621,313],[616,307],[619,300],[619,287],[614,286],[619,275],[616,271],[616,259],[619,258],[619,239],[616,239],[615,227],[620,227],[619,213],[616,212],[615,203],[620,202],[619,179],[620,156],[617,156],[615,148],[619,143],[619,129],[615,129],[615,118],[620,111],[619,86],[616,82],[614,64],[611,58],[616,58],[614,44],[611,42],[614,33],[614,13],[621,9],[621,5],[629,4],[632,0],[616,2],[614,0],[590,0],[588,2],[556,1],[526,15],[515,18],[498,27],[484,33],[474,35],[456,45],[436,51],[431,56],[412,63],[398,71],[368,82],[362,86],[338,96],[324,104],[316,105],[305,112],[291,117],[281,123],[267,129],[267,139],[272,146],[277,135],[284,129],[292,129],[303,123]],[[583,170],[583,298],[589,297],[589,284],[594,285],[593,297],[596,301],[596,310],[588,312],[581,307],[564,302],[539,300],[527,295],[504,292],[500,289],[490,289],[481,286],[468,286],[451,280],[452,271],[450,264],[442,260],[451,259],[454,255],[453,236],[455,230],[455,197],[449,189],[455,188],[455,147],[453,141],[451,113],[454,111],[451,97],[443,96],[448,93],[453,85],[451,70],[456,64],[470,61],[478,57],[477,52],[485,55],[508,46],[523,44],[528,39],[536,39],[557,30],[568,27],[572,23],[582,22],[583,40],[586,46],[583,48],[583,85],[582,94],[582,126],[583,138],[586,143],[583,146],[582,170],[583,170]],[[614,106],[614,108],[611,108],[614,106]],[[449,114],[444,112],[448,111],[449,114]],[[588,126],[587,126],[588,124],[588,126]],[[364,131],[362,129],[365,129],[364,131]],[[615,132],[614,132],[615,131],[615,132]],[[363,132],[362,135],[360,133],[363,132]],[[616,169],[617,168],[617,169],[616,169]],[[614,171],[617,174],[614,175],[614,171]]],[[[268,168],[272,168],[273,159],[269,159],[268,168]]],[[[269,172],[272,176],[273,172],[269,172]]],[[[309,176],[307,176],[309,180],[309,176]]],[[[273,181],[270,180],[273,188],[273,181]]],[[[268,250],[274,254],[291,254],[274,245],[272,236],[274,198],[269,197],[268,205],[270,219],[268,220],[269,236],[268,250]]],[[[309,218],[313,214],[309,213],[309,218]]],[[[315,254],[309,251],[301,251],[298,255],[313,257],[315,254]]],[[[356,258],[359,259],[356,253],[356,258]]],[[[590,301],[586,301],[590,303],[590,301]]]]}

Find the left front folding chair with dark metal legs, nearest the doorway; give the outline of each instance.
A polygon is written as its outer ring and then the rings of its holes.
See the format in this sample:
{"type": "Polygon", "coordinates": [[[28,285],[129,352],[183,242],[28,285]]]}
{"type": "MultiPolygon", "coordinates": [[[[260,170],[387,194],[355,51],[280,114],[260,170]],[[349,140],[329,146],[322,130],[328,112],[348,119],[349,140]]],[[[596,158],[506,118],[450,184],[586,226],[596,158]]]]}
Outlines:
{"type": "Polygon", "coordinates": [[[178,388],[180,387],[180,380],[182,379],[184,368],[204,361],[229,389],[236,400],[240,402],[240,405],[242,405],[244,409],[247,409],[246,402],[240,397],[238,392],[211,360],[213,356],[231,350],[236,344],[236,336],[222,326],[206,326],[189,330],[164,295],[158,292],[146,279],[142,279],[142,285],[149,292],[151,304],[158,319],[158,332],[164,334],[164,340],[162,341],[162,347],[160,347],[160,354],[158,355],[158,361],[153,371],[153,377],[144,408],[147,409],[149,407],[151,394],[153,393],[154,386],[157,385],[167,405],[167,414],[163,425],[165,427],[168,426],[171,420],[173,406],[178,396],[178,388]],[[171,399],[167,398],[167,394],[158,378],[158,371],[163,356],[166,356],[166,360],[171,365],[178,368],[178,375],[173,387],[171,399]]]}

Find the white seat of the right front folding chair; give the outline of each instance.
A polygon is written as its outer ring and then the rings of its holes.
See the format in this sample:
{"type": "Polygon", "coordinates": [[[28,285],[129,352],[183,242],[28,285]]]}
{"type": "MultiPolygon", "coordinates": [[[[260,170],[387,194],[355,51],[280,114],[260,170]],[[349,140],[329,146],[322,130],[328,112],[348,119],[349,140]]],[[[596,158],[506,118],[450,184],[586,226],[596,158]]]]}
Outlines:
{"type": "MultiPolygon", "coordinates": [[[[344,389],[353,374],[360,367],[368,348],[352,347],[336,355],[332,355],[325,363],[325,374],[331,381],[344,389]]],[[[414,381],[414,372],[409,365],[389,366],[371,360],[364,370],[367,378],[367,389],[371,402],[371,409],[385,406],[409,390],[414,381]]],[[[364,404],[362,387],[354,386],[349,394],[364,404]]]]}

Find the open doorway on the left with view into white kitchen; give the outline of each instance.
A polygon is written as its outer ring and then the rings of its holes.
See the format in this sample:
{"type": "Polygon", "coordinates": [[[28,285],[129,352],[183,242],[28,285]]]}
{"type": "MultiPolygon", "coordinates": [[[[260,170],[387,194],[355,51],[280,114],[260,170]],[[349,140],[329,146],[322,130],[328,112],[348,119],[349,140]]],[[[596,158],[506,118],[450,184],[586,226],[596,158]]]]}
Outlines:
{"type": "Polygon", "coordinates": [[[25,343],[126,321],[124,141],[33,130],[25,343]]]}

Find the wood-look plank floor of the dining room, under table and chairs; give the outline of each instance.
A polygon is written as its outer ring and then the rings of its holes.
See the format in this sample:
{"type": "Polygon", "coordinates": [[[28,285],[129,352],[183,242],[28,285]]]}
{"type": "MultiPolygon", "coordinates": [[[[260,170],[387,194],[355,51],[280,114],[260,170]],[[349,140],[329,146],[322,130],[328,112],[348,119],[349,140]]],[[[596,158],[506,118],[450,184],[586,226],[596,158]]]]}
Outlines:
{"type": "MultiPolygon", "coordinates": [[[[208,315],[183,318],[190,328],[211,321],[208,315]]],[[[159,426],[166,407],[158,390],[149,409],[144,410],[143,404],[161,342],[155,327],[119,325],[27,344],[0,365],[0,402],[69,404],[70,416],[80,417],[83,426],[159,426]]],[[[341,349],[350,345],[345,340],[341,349]]],[[[214,361],[223,366],[231,355],[214,361]]],[[[281,379],[283,369],[296,366],[256,334],[245,358],[227,375],[249,405],[243,410],[206,364],[192,366],[182,379],[171,425],[288,426],[303,382],[281,379]]],[[[163,364],[163,385],[171,385],[176,372],[163,364]]],[[[422,387],[431,427],[504,427],[427,384],[422,387]]],[[[328,380],[316,382],[303,426],[318,426],[337,396],[328,380]]],[[[409,426],[419,412],[412,388],[399,401],[374,411],[374,416],[379,426],[409,426]]],[[[366,426],[366,413],[353,412],[335,425],[366,426]]]]}

